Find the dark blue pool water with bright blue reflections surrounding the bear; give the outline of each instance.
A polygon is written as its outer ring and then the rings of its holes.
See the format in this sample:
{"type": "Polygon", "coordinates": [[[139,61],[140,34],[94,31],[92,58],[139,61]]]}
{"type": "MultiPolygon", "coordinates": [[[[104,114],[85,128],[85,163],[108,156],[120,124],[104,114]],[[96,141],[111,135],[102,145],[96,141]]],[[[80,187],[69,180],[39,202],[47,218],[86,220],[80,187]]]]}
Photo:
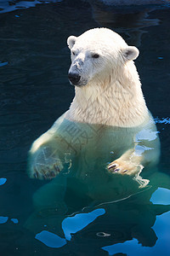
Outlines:
{"type": "Polygon", "coordinates": [[[122,9],[97,2],[1,1],[1,8],[1,255],[169,255],[168,4],[122,9]],[[114,29],[140,50],[136,65],[159,131],[160,172],[143,189],[119,180],[112,200],[99,203],[89,201],[82,183],[73,179],[80,192],[68,190],[65,203],[54,204],[48,182],[27,176],[27,152],[74,96],[67,81],[66,38],[96,26],[114,29]],[[35,208],[38,195],[42,205],[35,208]],[[45,207],[45,201],[52,205],[45,207]]]}

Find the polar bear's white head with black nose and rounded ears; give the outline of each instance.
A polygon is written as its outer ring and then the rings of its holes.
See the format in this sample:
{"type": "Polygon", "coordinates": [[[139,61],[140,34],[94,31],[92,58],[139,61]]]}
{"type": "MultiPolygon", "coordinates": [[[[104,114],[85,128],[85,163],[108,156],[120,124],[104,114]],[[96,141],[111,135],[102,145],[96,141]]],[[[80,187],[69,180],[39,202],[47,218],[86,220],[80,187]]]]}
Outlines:
{"type": "Polygon", "coordinates": [[[82,86],[109,78],[120,78],[122,67],[139,55],[120,35],[107,28],[94,28],[81,36],[67,39],[71,49],[68,78],[73,85],[82,86]]]}

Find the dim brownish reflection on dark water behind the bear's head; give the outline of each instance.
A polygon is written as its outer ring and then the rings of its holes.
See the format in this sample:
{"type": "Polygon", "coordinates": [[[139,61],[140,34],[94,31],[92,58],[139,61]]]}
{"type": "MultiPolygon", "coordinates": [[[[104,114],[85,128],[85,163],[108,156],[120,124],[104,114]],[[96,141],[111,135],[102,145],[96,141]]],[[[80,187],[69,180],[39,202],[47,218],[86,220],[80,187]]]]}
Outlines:
{"type": "Polygon", "coordinates": [[[148,18],[149,13],[155,10],[154,6],[133,6],[125,7],[114,6],[108,8],[99,8],[98,5],[93,6],[94,20],[96,20],[100,26],[110,27],[113,26],[116,32],[126,35],[129,44],[139,47],[141,44],[141,38],[144,32],[144,28],[148,26],[158,26],[160,20],[148,18]]]}

